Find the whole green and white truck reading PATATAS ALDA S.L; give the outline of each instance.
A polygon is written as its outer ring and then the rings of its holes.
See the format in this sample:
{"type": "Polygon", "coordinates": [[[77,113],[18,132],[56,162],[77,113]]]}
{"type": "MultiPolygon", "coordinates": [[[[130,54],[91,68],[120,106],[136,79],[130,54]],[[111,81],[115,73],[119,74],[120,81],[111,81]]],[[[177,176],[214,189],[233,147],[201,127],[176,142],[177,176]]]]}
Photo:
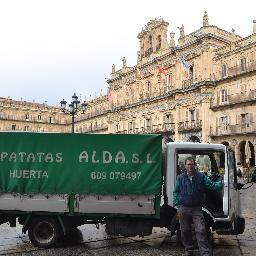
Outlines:
{"type": "Polygon", "coordinates": [[[218,172],[225,184],[206,200],[209,228],[243,232],[234,153],[215,144],[163,147],[153,134],[1,132],[0,224],[18,221],[42,248],[86,223],[104,224],[109,235],[145,236],[154,226],[175,232],[172,190],[180,161],[191,155],[199,171],[218,172]]]}

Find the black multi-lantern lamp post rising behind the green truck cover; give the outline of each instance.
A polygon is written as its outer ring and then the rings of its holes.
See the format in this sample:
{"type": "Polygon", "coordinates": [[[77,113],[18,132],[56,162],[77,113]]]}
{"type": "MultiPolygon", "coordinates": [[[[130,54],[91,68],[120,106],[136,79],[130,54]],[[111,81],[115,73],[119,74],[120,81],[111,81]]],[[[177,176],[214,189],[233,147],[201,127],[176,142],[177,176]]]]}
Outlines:
{"type": "Polygon", "coordinates": [[[72,117],[72,133],[74,133],[75,132],[75,115],[78,113],[79,110],[81,110],[82,113],[84,113],[84,111],[86,110],[86,107],[88,106],[88,103],[86,101],[84,101],[80,105],[80,101],[78,100],[78,97],[74,93],[74,95],[72,96],[72,101],[69,104],[69,109],[66,109],[66,104],[67,104],[67,102],[63,99],[60,102],[60,107],[61,107],[62,112],[69,113],[69,115],[71,115],[71,117],[72,117]]]}

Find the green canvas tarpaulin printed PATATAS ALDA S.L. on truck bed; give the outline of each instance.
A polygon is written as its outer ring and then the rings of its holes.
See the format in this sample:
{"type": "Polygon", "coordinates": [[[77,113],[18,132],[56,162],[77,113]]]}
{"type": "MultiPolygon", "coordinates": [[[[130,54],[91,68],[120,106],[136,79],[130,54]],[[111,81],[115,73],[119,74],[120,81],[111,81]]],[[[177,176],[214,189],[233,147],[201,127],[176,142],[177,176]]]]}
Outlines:
{"type": "Polygon", "coordinates": [[[0,190],[158,194],[160,135],[0,133],[0,190]]]}

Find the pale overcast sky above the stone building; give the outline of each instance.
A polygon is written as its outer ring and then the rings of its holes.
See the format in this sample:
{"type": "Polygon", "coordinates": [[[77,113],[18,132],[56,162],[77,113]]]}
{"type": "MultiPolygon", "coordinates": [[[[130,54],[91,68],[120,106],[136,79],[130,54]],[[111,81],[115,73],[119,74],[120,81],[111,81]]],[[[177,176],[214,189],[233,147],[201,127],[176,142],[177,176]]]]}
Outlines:
{"type": "Polygon", "coordinates": [[[106,94],[112,64],[136,65],[138,33],[152,18],[169,22],[168,35],[209,23],[248,36],[256,1],[0,0],[1,97],[56,106],[74,92],[106,94]]]}

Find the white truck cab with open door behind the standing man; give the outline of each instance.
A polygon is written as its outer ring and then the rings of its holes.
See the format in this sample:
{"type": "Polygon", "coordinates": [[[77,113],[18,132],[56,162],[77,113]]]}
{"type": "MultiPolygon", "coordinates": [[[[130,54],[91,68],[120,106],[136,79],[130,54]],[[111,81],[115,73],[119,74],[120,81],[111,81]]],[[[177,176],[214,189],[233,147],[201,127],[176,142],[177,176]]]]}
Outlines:
{"type": "Polygon", "coordinates": [[[184,161],[193,157],[196,169],[213,181],[222,180],[221,191],[206,191],[203,205],[206,224],[218,234],[241,234],[245,221],[241,215],[239,189],[237,182],[234,152],[222,144],[175,143],[167,144],[165,168],[166,203],[173,205],[173,189],[177,175],[185,171],[184,161]]]}

